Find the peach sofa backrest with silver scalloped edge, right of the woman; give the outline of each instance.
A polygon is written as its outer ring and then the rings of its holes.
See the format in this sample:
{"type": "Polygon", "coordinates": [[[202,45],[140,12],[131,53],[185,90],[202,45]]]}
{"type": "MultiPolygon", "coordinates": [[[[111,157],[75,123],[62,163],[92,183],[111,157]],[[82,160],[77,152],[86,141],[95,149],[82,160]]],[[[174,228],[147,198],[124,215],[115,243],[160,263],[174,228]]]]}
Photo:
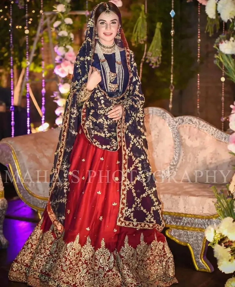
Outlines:
{"type": "Polygon", "coordinates": [[[226,184],[234,174],[226,134],[192,116],[173,117],[158,107],[145,108],[148,155],[156,176],[177,182],[226,184]]]}

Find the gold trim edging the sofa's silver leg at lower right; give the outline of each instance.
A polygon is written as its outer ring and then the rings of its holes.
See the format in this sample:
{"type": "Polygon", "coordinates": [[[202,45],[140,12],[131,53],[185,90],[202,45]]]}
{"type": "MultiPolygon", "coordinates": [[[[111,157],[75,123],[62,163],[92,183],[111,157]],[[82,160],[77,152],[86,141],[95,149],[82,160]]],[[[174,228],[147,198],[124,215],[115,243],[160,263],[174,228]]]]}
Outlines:
{"type": "MultiPolygon", "coordinates": [[[[194,256],[194,252],[193,252],[193,249],[190,245],[190,243],[188,242],[184,242],[184,241],[180,241],[179,239],[175,238],[174,236],[172,236],[171,234],[169,234],[169,232],[172,230],[172,228],[169,228],[168,230],[166,230],[165,234],[167,237],[169,237],[170,239],[174,240],[176,243],[180,244],[180,245],[183,245],[183,246],[187,246],[190,250],[190,253],[191,253],[191,257],[192,257],[192,260],[193,260],[193,264],[194,264],[194,267],[197,271],[202,271],[202,272],[213,272],[213,269],[211,269],[208,264],[205,262],[204,258],[203,258],[203,253],[205,251],[205,248],[207,246],[207,241],[206,241],[206,238],[204,237],[203,241],[202,241],[202,247],[201,247],[201,253],[200,253],[200,260],[202,262],[202,264],[205,265],[206,269],[202,269],[202,268],[199,268],[197,266],[197,263],[196,263],[196,260],[195,260],[195,256],[194,256]]],[[[192,231],[190,230],[190,228],[188,229],[189,231],[192,231]]]]}

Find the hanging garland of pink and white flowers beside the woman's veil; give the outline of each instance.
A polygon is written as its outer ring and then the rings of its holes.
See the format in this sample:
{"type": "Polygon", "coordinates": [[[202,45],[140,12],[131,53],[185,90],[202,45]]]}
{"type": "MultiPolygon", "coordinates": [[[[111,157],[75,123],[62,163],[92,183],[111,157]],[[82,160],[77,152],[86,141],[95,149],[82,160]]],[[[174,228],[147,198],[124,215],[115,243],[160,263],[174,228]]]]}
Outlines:
{"type": "Polygon", "coordinates": [[[73,20],[69,18],[71,0],[58,0],[58,4],[53,6],[57,13],[57,19],[53,24],[53,29],[57,33],[57,45],[55,46],[55,74],[59,77],[59,91],[54,92],[55,100],[58,107],[55,110],[57,118],[55,123],[60,126],[62,124],[63,114],[65,111],[66,98],[70,91],[71,77],[73,74],[74,62],[76,54],[71,46],[74,35],[71,33],[71,25],[73,20]]]}

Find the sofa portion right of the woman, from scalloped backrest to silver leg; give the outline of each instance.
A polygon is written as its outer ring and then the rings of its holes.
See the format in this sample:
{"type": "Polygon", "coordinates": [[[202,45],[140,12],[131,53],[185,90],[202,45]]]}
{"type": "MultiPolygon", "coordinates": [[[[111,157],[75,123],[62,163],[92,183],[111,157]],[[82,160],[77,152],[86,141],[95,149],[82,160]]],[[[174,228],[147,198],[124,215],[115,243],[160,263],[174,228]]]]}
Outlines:
{"type": "Polygon", "coordinates": [[[173,117],[156,107],[145,108],[145,126],[166,235],[189,247],[196,270],[212,272],[204,231],[220,221],[211,185],[225,189],[234,174],[229,135],[197,117],[173,117]]]}

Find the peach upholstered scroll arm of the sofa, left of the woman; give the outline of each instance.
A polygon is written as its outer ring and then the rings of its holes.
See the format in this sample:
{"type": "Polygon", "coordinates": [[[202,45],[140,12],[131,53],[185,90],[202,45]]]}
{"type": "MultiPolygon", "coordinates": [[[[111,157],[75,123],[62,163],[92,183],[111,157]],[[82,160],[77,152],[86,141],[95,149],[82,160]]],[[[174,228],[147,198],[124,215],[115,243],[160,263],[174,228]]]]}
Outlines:
{"type": "Polygon", "coordinates": [[[29,188],[30,182],[46,182],[49,186],[59,133],[60,128],[55,128],[14,138],[3,138],[0,141],[0,162],[8,164],[11,160],[6,157],[13,157],[25,185],[29,188]]]}

